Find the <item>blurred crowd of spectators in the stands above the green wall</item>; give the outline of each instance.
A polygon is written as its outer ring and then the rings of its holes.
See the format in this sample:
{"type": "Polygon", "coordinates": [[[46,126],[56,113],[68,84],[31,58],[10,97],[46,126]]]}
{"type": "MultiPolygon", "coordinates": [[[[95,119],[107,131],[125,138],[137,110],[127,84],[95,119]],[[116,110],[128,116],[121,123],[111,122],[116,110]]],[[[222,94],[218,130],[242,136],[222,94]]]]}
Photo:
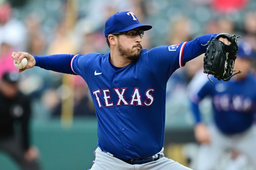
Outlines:
{"type": "MultiPolygon", "coordinates": [[[[23,0],[20,3],[0,0],[0,3],[0,77],[6,71],[17,70],[12,64],[12,51],[27,51],[32,55],[107,52],[105,21],[118,11],[132,11],[141,23],[153,26],[145,32],[143,48],[179,44],[207,33],[231,33],[241,35],[256,50],[253,0],[23,0]]],[[[203,55],[186,63],[170,78],[166,94],[167,127],[193,124],[187,91],[190,80],[202,67],[203,55]]],[[[20,90],[31,96],[34,118],[61,115],[62,100],[72,93],[74,115],[95,116],[88,86],[79,76],[70,78],[73,88],[62,83],[63,74],[37,67],[21,76],[20,90]]],[[[209,107],[205,108],[210,112],[209,107]]]]}

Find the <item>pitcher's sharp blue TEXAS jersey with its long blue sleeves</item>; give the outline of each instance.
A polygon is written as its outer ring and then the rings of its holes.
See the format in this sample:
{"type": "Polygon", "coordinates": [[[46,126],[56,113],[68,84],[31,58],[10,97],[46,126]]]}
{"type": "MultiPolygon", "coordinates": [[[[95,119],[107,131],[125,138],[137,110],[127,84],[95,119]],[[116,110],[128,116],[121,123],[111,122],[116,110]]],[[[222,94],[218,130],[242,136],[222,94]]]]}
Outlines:
{"type": "Polygon", "coordinates": [[[142,49],[140,57],[123,68],[110,63],[110,52],[35,56],[36,66],[84,78],[95,105],[100,148],[117,158],[147,158],[164,145],[168,79],[176,69],[204,53],[207,47],[201,44],[216,35],[142,49]]]}

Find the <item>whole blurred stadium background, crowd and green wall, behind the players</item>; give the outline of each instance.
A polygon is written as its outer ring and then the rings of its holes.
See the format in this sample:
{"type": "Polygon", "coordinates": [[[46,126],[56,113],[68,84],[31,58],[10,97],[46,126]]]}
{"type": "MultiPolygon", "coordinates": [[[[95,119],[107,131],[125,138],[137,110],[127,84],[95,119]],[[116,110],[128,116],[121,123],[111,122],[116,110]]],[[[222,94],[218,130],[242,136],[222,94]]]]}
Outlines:
{"type": "MultiPolygon", "coordinates": [[[[255,0],[0,0],[0,4],[0,76],[16,70],[12,51],[33,55],[107,52],[104,25],[117,11],[132,11],[141,23],[153,26],[143,37],[144,48],[225,32],[241,35],[256,50],[255,0]]],[[[188,85],[202,68],[202,58],[172,75],[166,95],[164,152],[191,168],[198,145],[188,85]]],[[[97,120],[83,80],[33,68],[22,73],[20,89],[32,97],[31,140],[40,151],[42,169],[90,168],[97,147],[97,120]]],[[[208,122],[210,101],[200,107],[208,122]]],[[[0,152],[0,169],[17,170],[18,166],[0,152]]]]}

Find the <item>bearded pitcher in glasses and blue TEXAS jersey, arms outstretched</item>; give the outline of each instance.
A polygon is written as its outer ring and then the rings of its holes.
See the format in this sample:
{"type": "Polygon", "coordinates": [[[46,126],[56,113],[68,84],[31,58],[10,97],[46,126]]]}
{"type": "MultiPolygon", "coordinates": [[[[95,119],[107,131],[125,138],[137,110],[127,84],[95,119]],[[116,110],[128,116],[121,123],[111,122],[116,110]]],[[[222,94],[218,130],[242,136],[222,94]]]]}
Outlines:
{"type": "MultiPolygon", "coordinates": [[[[144,31],[134,13],[119,12],[108,18],[106,54],[32,56],[13,52],[14,61],[80,75],[88,84],[98,119],[95,169],[188,170],[164,157],[166,83],[172,73],[196,56],[217,34],[200,36],[176,45],[142,48],[144,31]]],[[[228,44],[227,39],[220,41],[228,44]]],[[[203,61],[202,61],[203,62],[203,61]]]]}

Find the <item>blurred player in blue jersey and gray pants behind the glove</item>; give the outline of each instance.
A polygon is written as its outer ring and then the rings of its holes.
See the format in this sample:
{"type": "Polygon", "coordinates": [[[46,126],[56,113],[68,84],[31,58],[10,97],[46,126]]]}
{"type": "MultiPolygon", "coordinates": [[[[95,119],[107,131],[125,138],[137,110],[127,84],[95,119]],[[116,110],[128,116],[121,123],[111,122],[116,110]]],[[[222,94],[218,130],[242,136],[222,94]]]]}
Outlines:
{"type": "Polygon", "coordinates": [[[235,70],[242,70],[242,74],[227,82],[215,79],[212,83],[202,77],[193,80],[196,85],[192,85],[190,98],[196,119],[195,136],[201,144],[197,170],[215,169],[227,150],[243,153],[256,167],[256,78],[251,72],[255,55],[248,43],[239,42],[238,46],[235,70]],[[210,96],[213,106],[213,121],[208,127],[202,123],[198,107],[206,96],[210,96]]]}

